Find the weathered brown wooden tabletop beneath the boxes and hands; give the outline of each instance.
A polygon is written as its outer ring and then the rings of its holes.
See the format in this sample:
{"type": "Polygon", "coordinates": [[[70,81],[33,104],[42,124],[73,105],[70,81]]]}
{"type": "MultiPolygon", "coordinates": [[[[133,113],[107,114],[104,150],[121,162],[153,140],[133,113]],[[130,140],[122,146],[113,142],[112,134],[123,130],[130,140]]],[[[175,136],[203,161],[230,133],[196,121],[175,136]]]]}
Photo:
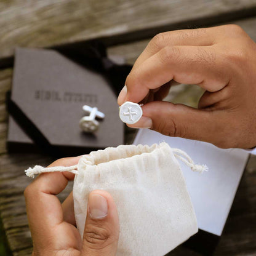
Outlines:
{"type": "MultiPolygon", "coordinates": [[[[179,22],[185,26],[186,21],[193,26],[200,19],[206,20],[205,23],[220,23],[225,13],[233,14],[234,11],[239,11],[239,15],[250,15],[256,6],[256,1],[196,0],[191,6],[191,1],[158,1],[161,4],[142,0],[118,1],[119,6],[116,2],[0,1],[0,58],[12,55],[14,46],[17,45],[52,46],[105,35],[136,34],[135,31],[152,27],[172,28],[179,22]],[[30,7],[22,9],[26,4],[30,7]],[[203,10],[203,13],[200,10],[203,10]],[[113,14],[113,17],[110,14],[113,14]],[[209,21],[207,17],[212,18],[209,21]],[[117,20],[119,22],[116,22],[117,20]],[[193,20],[196,22],[193,23],[193,20]]],[[[228,17],[230,15],[227,15],[226,19],[228,17]]],[[[241,25],[256,41],[256,17],[234,23],[241,25]]],[[[157,30],[153,29],[146,34],[151,35],[157,30]]],[[[143,38],[146,34],[138,38],[143,38]]],[[[127,63],[132,64],[148,41],[149,39],[145,39],[112,46],[108,52],[123,55],[127,63]]],[[[4,98],[6,91],[11,87],[11,81],[12,68],[0,70],[0,216],[13,254],[30,255],[32,244],[23,190],[31,180],[25,176],[23,170],[34,164],[46,166],[53,159],[41,154],[7,153],[7,113],[4,98]]],[[[169,95],[169,100],[194,106],[200,94],[198,87],[178,86],[169,95]]],[[[129,134],[129,130],[126,134],[129,134]]],[[[71,186],[72,184],[60,194],[60,200],[69,193],[71,186]]],[[[199,254],[180,246],[169,255],[199,254]]],[[[256,255],[255,156],[251,157],[247,164],[215,255],[256,255]]]]}

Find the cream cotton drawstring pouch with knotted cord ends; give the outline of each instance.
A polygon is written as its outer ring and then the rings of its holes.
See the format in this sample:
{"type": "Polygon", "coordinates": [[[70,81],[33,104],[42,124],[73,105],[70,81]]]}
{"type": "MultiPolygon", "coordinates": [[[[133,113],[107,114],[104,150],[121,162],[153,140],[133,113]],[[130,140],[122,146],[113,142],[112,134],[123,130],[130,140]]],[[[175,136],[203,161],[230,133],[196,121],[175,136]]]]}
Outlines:
{"type": "Polygon", "coordinates": [[[162,256],[198,231],[196,215],[177,161],[202,172],[182,150],[167,143],[121,145],[82,156],[78,166],[35,166],[26,170],[33,177],[41,172],[70,171],[74,178],[74,214],[81,236],[87,202],[93,190],[105,190],[118,208],[120,236],[118,256],[162,256]]]}

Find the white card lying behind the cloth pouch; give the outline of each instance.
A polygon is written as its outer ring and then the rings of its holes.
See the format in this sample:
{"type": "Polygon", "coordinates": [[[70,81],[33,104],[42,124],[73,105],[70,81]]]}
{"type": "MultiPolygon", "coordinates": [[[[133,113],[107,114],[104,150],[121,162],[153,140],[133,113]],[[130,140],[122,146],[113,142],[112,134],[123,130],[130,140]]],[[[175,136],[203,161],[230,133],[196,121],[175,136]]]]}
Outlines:
{"type": "Polygon", "coordinates": [[[199,174],[180,162],[201,230],[220,236],[236,194],[249,153],[240,149],[222,150],[216,146],[185,138],[167,137],[140,129],[134,144],[166,142],[188,153],[196,164],[206,164],[208,172],[199,174]]]}

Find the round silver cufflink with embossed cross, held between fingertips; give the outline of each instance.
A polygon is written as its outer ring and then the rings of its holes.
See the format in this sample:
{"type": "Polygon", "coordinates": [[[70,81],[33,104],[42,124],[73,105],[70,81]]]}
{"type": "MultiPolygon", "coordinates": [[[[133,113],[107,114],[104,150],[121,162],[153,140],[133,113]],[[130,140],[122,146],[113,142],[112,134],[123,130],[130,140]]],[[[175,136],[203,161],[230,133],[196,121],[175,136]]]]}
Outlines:
{"type": "Polygon", "coordinates": [[[119,117],[126,124],[135,124],[142,117],[142,105],[134,102],[125,102],[119,106],[119,117]]]}

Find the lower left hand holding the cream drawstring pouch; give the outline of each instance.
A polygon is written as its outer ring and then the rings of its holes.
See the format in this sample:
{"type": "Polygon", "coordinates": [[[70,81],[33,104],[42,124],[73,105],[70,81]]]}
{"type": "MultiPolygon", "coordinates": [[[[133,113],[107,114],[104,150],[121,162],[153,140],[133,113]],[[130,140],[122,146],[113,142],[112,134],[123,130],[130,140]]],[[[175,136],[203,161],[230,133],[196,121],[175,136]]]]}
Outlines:
{"type": "MultiPolygon", "coordinates": [[[[63,158],[50,166],[72,166],[79,158],[63,158]]],[[[33,239],[33,255],[116,255],[119,238],[118,211],[106,191],[92,191],[88,199],[84,238],[74,220],[73,194],[60,204],[56,194],[69,180],[70,172],[39,175],[25,190],[26,210],[33,239]]]]}

